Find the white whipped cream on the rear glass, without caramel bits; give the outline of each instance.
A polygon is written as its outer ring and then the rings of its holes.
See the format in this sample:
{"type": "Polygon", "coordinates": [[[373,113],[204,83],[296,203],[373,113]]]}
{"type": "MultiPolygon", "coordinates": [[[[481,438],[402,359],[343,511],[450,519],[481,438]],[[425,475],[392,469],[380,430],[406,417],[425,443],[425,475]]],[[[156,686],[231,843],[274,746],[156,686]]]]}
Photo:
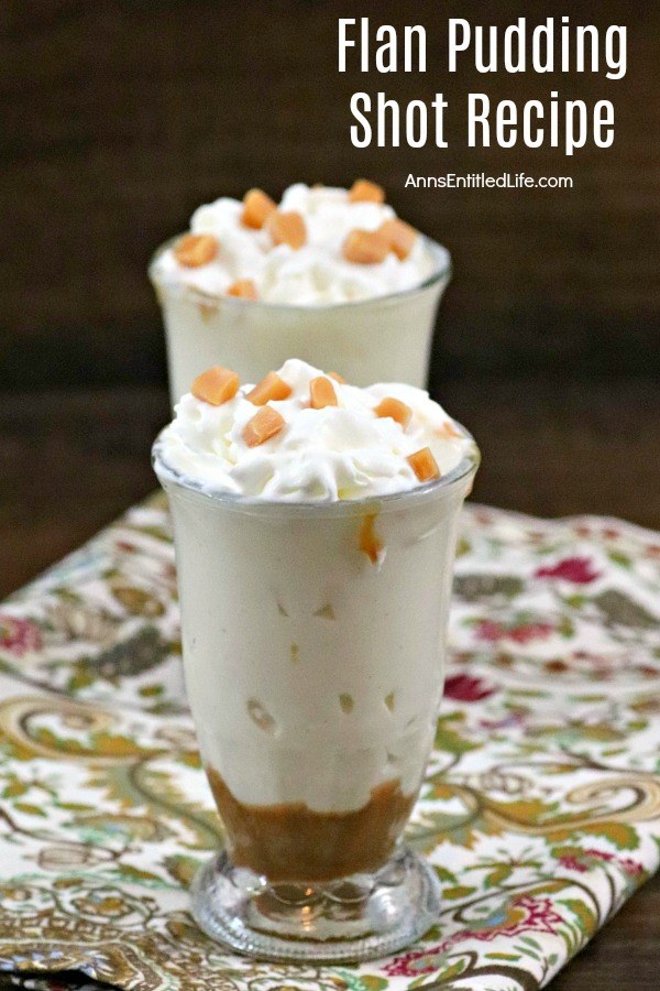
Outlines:
{"type": "Polygon", "coordinates": [[[387,204],[352,203],[345,189],[297,183],[285,192],[278,209],[301,215],[307,231],[302,248],[274,246],[265,228],[243,225],[240,200],[222,197],[199,207],[190,220],[193,233],[210,233],[218,240],[216,258],[186,268],[177,261],[174,248],[166,248],[154,263],[154,279],[213,296],[249,279],[264,303],[320,306],[409,290],[449,264],[449,252],[433,246],[431,253],[429,242],[420,236],[405,259],[391,251],[375,264],[348,261],[342,254],[348,235],[355,229],[375,231],[385,220],[396,218],[396,213],[387,204]]]}

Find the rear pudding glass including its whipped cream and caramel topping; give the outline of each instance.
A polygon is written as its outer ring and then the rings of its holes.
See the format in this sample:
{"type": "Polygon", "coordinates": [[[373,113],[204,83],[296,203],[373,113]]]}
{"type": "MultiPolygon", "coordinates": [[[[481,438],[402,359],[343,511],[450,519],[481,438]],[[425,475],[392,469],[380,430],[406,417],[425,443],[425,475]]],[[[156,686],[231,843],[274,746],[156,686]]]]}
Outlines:
{"type": "Polygon", "coordinates": [[[292,355],[317,368],[336,362],[358,385],[396,379],[424,388],[438,306],[451,277],[450,254],[408,225],[383,219],[394,216],[384,204],[350,203],[349,195],[287,190],[283,216],[301,218],[307,237],[295,248],[274,242],[266,221],[263,229],[245,227],[242,204],[221,199],[194,216],[198,232],[156,252],[150,279],[165,326],[173,407],[215,363],[255,382],[292,355]],[[414,248],[402,249],[408,255],[399,258],[382,240],[375,249],[369,240],[350,241],[355,233],[377,239],[387,224],[416,238],[414,248]],[[190,237],[208,244],[208,254],[187,253],[179,264],[177,246],[186,247],[190,237]],[[361,260],[348,260],[346,250],[361,260]]]}

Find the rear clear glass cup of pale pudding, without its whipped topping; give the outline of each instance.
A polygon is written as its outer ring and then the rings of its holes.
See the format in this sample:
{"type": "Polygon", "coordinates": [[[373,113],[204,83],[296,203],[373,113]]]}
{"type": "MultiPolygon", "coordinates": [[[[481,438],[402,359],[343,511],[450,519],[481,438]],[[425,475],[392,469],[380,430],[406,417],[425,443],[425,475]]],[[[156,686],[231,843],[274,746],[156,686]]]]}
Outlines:
{"type": "Polygon", "coordinates": [[[172,405],[212,364],[258,382],[295,355],[342,374],[352,385],[408,382],[426,386],[438,305],[451,277],[449,252],[425,238],[436,270],[421,285],[355,303],[290,306],[211,296],[163,282],[157,259],[150,277],[163,311],[172,405]]]}

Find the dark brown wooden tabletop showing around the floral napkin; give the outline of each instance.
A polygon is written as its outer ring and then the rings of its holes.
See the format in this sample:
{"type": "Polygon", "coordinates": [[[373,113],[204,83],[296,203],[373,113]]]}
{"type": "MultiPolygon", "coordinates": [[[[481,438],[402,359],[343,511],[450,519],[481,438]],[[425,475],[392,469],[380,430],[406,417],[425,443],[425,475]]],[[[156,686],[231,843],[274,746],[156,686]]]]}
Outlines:
{"type": "MultiPolygon", "coordinates": [[[[537,515],[618,515],[660,529],[660,394],[652,382],[447,383],[438,394],[484,455],[474,497],[537,515]]],[[[157,388],[0,395],[0,596],[155,487],[157,388]]],[[[622,908],[554,991],[659,987],[660,879],[622,908]]]]}

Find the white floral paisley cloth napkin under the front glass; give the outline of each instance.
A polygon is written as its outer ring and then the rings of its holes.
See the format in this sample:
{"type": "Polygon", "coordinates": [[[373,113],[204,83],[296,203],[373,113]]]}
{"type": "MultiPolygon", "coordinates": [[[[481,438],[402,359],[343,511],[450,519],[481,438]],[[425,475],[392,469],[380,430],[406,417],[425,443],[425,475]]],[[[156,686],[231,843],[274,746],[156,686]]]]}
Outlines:
{"type": "Polygon", "coordinates": [[[442,911],[391,959],[277,967],[188,914],[219,824],[167,514],[131,510],[0,608],[0,969],[34,988],[64,971],[140,991],[542,987],[660,860],[659,566],[660,535],[629,524],[468,508],[408,830],[442,911]]]}

